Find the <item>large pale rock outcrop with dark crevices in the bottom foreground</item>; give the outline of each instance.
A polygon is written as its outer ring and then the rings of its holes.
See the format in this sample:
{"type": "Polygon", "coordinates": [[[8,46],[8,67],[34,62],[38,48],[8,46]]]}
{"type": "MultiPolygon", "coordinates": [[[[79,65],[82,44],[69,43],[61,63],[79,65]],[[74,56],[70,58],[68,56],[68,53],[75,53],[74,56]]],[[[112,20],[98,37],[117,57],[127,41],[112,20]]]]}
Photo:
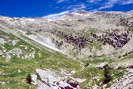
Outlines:
{"type": "Polygon", "coordinates": [[[38,89],[80,89],[77,81],[53,70],[36,69],[36,74],[31,74],[27,81],[38,89]]]}

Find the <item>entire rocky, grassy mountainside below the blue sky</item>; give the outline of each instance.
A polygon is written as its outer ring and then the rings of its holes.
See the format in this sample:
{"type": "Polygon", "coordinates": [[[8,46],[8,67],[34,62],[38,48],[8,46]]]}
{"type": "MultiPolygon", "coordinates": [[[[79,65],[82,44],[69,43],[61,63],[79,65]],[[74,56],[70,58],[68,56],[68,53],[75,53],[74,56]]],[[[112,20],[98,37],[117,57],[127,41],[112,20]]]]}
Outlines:
{"type": "Polygon", "coordinates": [[[132,75],[133,11],[0,16],[1,89],[132,89],[132,75]]]}

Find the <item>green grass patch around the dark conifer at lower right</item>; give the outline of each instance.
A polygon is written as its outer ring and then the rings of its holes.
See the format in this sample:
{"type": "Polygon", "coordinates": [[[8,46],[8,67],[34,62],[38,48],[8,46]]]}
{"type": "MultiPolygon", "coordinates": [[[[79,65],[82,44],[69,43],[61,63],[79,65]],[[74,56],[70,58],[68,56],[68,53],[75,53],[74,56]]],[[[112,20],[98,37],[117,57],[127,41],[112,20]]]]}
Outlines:
{"type": "MultiPolygon", "coordinates": [[[[121,78],[125,71],[124,70],[108,70],[109,74],[111,75],[111,81],[107,83],[107,88],[109,88],[114,82],[114,80],[121,78]]],[[[98,85],[99,89],[102,88],[102,82],[104,81],[104,70],[98,69],[93,66],[89,66],[84,70],[77,72],[74,77],[83,78],[87,81],[81,83],[82,89],[92,89],[92,86],[95,84],[98,85]]]]}

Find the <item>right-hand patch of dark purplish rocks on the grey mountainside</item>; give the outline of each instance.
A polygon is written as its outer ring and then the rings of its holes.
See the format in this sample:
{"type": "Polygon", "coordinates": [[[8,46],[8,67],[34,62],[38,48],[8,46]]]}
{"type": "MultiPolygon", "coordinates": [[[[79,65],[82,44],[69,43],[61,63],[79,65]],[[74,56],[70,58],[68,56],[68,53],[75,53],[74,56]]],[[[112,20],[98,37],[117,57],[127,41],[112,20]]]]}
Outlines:
{"type": "Polygon", "coordinates": [[[130,40],[129,31],[115,30],[114,32],[106,32],[105,35],[97,36],[93,34],[93,37],[98,41],[103,41],[114,48],[122,48],[130,40]],[[120,33],[119,33],[120,32],[120,33]]]}

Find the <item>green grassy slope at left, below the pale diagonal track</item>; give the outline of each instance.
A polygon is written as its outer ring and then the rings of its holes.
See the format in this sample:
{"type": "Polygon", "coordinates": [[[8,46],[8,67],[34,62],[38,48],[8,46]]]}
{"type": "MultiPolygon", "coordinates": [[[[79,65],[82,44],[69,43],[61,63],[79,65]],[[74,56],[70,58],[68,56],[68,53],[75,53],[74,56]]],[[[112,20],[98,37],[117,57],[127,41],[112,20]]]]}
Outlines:
{"type": "Polygon", "coordinates": [[[4,44],[3,46],[6,50],[20,48],[25,54],[35,51],[35,58],[32,59],[23,59],[22,57],[18,58],[17,56],[12,56],[11,60],[6,62],[6,59],[0,56],[0,82],[5,82],[5,84],[0,83],[0,89],[35,89],[35,86],[26,83],[26,77],[27,75],[34,73],[37,68],[52,68],[56,70],[64,68],[68,71],[80,70],[79,62],[67,58],[62,54],[50,52],[47,49],[35,46],[35,44],[29,44],[11,34],[1,31],[0,34],[3,34],[4,37],[9,38],[8,40],[19,40],[16,46],[4,44]],[[25,49],[25,47],[27,47],[27,49],[25,49]]]}

